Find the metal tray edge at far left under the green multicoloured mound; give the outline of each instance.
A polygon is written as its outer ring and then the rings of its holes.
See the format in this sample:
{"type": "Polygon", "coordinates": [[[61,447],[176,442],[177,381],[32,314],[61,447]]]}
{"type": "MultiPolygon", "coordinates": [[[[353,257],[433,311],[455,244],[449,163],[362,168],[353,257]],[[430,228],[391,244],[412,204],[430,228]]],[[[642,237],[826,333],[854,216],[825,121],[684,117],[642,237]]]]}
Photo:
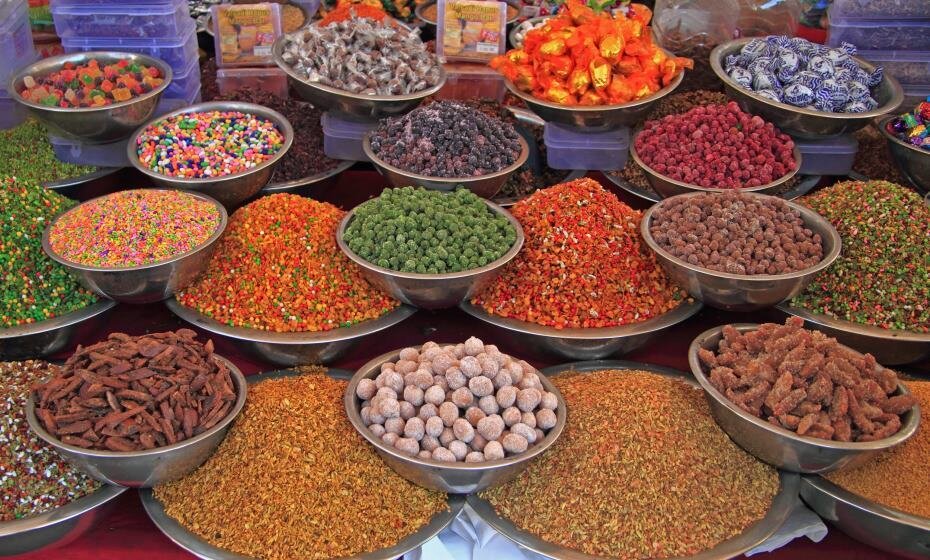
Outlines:
{"type": "Polygon", "coordinates": [[[0,360],[44,358],[71,344],[78,326],[103,323],[103,315],[116,307],[101,300],[87,307],[45,321],[0,329],[0,360]]]}

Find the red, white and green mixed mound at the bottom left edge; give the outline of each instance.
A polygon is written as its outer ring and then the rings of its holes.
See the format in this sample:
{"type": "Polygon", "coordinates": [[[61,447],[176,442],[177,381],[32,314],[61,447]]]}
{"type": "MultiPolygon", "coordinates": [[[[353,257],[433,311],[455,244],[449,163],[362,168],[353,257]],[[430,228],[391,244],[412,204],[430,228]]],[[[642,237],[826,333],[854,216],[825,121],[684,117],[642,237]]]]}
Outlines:
{"type": "Polygon", "coordinates": [[[0,522],[38,515],[100,488],[26,422],[32,386],[58,372],[46,362],[0,362],[0,522]]]}

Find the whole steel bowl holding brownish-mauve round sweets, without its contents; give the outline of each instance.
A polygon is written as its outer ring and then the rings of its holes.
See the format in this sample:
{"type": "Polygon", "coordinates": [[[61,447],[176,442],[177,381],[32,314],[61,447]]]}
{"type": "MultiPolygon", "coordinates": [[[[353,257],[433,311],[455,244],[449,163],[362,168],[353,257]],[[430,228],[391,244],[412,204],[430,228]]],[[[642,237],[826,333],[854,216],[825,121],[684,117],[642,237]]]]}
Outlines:
{"type": "MultiPolygon", "coordinates": [[[[692,265],[662,248],[652,236],[652,218],[667,206],[667,201],[701,196],[702,193],[682,194],[656,203],[643,215],[640,233],[646,245],[655,253],[665,272],[695,299],[726,311],[755,311],[772,307],[801,293],[814,277],[833,264],[840,256],[840,234],[833,225],[806,206],[785,202],[801,215],[804,225],[823,240],[823,259],[816,265],[788,274],[729,274],[692,265]]],[[[745,193],[753,198],[768,195],[745,193]]]]}

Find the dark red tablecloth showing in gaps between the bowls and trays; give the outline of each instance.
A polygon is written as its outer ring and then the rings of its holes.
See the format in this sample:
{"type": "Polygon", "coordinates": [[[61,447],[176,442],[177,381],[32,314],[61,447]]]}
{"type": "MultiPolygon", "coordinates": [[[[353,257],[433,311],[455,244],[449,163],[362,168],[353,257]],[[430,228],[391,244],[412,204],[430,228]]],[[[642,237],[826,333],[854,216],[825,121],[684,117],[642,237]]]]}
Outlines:
{"type": "MultiPolygon", "coordinates": [[[[601,178],[603,179],[603,178],[601,178]]],[[[610,186],[628,204],[644,208],[645,204],[627,193],[610,186]]],[[[78,193],[80,198],[102,194],[114,188],[128,188],[140,185],[141,181],[128,172],[116,175],[78,193]]],[[[317,196],[350,208],[361,201],[374,196],[380,191],[381,177],[370,171],[350,171],[344,173],[338,183],[317,196]]],[[[784,316],[778,311],[767,311],[752,315],[724,313],[713,309],[704,309],[690,320],[663,332],[644,348],[622,359],[649,362],[674,367],[687,371],[686,353],[691,340],[700,332],[723,323],[746,321],[781,321],[784,316]]],[[[83,329],[78,341],[89,344],[103,338],[106,333],[122,331],[133,335],[146,332],[158,332],[188,326],[174,317],[162,304],[144,306],[120,305],[106,318],[106,330],[92,332],[83,329]]],[[[206,336],[206,333],[202,333],[206,336]]],[[[422,344],[427,340],[440,342],[457,342],[469,336],[478,336],[493,342],[507,353],[525,357],[537,367],[559,363],[557,357],[534,355],[518,346],[505,331],[488,327],[458,310],[441,312],[419,311],[410,319],[377,336],[369,337],[347,357],[333,364],[333,367],[355,369],[369,359],[381,353],[402,346],[422,344]]],[[[228,357],[246,374],[274,369],[244,355],[234,341],[214,338],[216,352],[228,357]]],[[[924,369],[926,371],[926,369],[924,369]]],[[[192,504],[191,507],[196,507],[192,504]]],[[[20,560],[39,560],[55,558],[60,560],[188,560],[192,555],[175,546],[149,521],[142,509],[139,498],[134,491],[127,491],[118,500],[110,515],[95,529],[70,545],[44,554],[32,554],[20,557],[20,560]]],[[[790,545],[769,554],[760,555],[763,560],[821,560],[837,558],[843,560],[880,560],[894,558],[892,555],[875,550],[851,540],[842,533],[831,530],[821,543],[814,544],[807,539],[799,539],[790,545]]]]}

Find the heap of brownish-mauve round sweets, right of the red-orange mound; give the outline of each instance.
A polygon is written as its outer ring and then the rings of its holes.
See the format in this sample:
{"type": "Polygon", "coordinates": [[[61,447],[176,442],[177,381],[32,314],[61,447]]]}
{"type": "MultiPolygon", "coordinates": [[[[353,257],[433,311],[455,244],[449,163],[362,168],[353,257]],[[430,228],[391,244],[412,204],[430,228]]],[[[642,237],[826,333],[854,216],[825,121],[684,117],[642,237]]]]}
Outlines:
{"type": "Polygon", "coordinates": [[[787,274],[823,259],[820,234],[772,196],[729,191],[675,197],[656,209],[649,231],[676,258],[729,274],[787,274]]]}

